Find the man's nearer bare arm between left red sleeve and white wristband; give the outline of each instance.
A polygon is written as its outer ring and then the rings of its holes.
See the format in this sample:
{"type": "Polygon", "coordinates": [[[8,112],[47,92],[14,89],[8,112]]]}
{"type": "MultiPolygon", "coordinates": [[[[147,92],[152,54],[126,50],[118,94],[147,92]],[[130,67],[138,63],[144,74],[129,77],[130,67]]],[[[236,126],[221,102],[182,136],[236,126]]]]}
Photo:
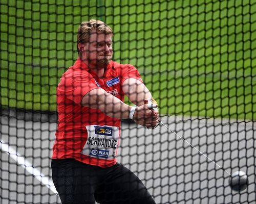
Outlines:
{"type": "Polygon", "coordinates": [[[124,104],[119,98],[105,92],[103,89],[94,89],[88,92],[81,101],[81,106],[99,109],[112,118],[129,118],[131,106],[124,104]]]}

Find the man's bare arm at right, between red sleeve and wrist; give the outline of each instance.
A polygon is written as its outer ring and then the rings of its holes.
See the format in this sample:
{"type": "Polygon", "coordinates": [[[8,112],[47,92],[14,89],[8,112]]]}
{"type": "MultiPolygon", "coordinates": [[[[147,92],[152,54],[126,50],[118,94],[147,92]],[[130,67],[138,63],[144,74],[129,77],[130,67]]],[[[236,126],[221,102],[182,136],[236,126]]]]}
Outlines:
{"type": "Polygon", "coordinates": [[[122,84],[122,90],[136,106],[143,105],[144,100],[147,98],[153,98],[146,86],[141,81],[134,78],[126,79],[122,84]]]}

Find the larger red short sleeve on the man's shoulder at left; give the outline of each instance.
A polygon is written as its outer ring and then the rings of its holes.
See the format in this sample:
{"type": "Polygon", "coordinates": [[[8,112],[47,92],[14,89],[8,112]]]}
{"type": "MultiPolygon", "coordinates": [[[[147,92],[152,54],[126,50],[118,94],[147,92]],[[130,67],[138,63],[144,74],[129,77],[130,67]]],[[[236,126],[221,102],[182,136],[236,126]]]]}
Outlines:
{"type": "Polygon", "coordinates": [[[73,71],[63,74],[57,87],[57,94],[68,98],[80,106],[84,95],[97,89],[94,78],[87,71],[73,71]]]}

